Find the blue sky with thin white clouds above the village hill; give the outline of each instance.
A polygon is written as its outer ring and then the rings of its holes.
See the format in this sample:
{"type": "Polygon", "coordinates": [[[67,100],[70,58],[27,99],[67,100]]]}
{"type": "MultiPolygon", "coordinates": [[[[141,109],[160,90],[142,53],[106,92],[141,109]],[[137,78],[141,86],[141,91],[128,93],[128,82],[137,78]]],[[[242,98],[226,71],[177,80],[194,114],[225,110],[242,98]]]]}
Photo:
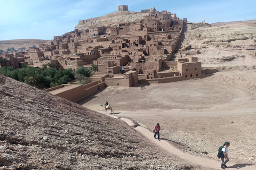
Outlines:
{"type": "Polygon", "coordinates": [[[189,22],[214,23],[256,19],[256,0],[0,0],[0,40],[53,39],[73,31],[79,20],[117,11],[128,5],[130,11],[155,6],[189,22]]]}

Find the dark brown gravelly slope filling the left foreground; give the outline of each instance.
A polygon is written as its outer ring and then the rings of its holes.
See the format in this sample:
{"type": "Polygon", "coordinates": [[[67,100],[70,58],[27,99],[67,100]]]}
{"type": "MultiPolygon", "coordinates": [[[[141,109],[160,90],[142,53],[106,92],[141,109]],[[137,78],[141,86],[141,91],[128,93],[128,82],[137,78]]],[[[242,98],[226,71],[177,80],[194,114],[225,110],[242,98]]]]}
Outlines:
{"type": "Polygon", "coordinates": [[[1,74],[0,99],[0,169],[191,169],[123,121],[1,74]]]}

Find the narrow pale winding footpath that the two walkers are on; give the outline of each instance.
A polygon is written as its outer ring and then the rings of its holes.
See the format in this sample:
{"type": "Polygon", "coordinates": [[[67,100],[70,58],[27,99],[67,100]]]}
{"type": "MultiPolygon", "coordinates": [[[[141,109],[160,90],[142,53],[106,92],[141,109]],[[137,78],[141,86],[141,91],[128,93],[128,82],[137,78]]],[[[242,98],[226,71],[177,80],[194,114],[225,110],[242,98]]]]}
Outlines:
{"type": "MultiPolygon", "coordinates": [[[[120,118],[115,115],[109,115],[114,118],[120,118]]],[[[134,123],[133,121],[129,120],[128,118],[120,118],[124,122],[126,122],[128,125],[132,126],[133,129],[141,133],[146,139],[150,140],[151,143],[154,143],[156,146],[162,148],[166,152],[168,152],[171,155],[177,156],[180,159],[183,159],[185,162],[190,163],[192,165],[197,165],[201,167],[202,169],[220,169],[220,161],[207,159],[203,157],[198,157],[195,155],[187,154],[175,147],[173,147],[167,140],[161,138],[160,134],[160,141],[154,138],[154,135],[151,131],[149,131],[146,128],[143,128],[142,126],[138,125],[137,123],[134,123]]],[[[243,170],[255,170],[256,165],[251,164],[236,164],[233,163],[232,160],[227,164],[228,168],[226,169],[243,169],[243,170]]]]}

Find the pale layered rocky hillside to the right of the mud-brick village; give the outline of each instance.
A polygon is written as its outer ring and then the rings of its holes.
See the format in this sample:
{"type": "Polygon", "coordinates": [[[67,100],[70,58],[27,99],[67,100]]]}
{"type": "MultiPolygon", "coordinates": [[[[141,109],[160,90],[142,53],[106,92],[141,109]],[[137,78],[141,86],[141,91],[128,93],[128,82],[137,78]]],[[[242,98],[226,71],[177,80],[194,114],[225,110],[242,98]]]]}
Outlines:
{"type": "Polygon", "coordinates": [[[214,24],[188,23],[176,57],[195,55],[202,66],[256,64],[256,20],[214,24]]]}

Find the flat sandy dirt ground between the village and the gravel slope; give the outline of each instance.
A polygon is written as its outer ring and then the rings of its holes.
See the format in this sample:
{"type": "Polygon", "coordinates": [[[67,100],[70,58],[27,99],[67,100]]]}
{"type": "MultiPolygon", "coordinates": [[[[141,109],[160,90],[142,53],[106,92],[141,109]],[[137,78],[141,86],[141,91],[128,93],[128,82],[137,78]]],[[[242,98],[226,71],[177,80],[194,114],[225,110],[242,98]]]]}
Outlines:
{"type": "Polygon", "coordinates": [[[154,140],[151,129],[160,123],[162,140],[154,142],[165,142],[160,147],[170,152],[177,148],[178,157],[207,168],[219,168],[218,148],[229,141],[230,169],[255,169],[256,95],[248,81],[256,83],[254,71],[218,72],[203,79],[150,84],[144,90],[141,84],[108,87],[78,104],[104,113],[100,104],[108,101],[115,116],[148,129],[141,133],[149,140],[154,140]]]}

